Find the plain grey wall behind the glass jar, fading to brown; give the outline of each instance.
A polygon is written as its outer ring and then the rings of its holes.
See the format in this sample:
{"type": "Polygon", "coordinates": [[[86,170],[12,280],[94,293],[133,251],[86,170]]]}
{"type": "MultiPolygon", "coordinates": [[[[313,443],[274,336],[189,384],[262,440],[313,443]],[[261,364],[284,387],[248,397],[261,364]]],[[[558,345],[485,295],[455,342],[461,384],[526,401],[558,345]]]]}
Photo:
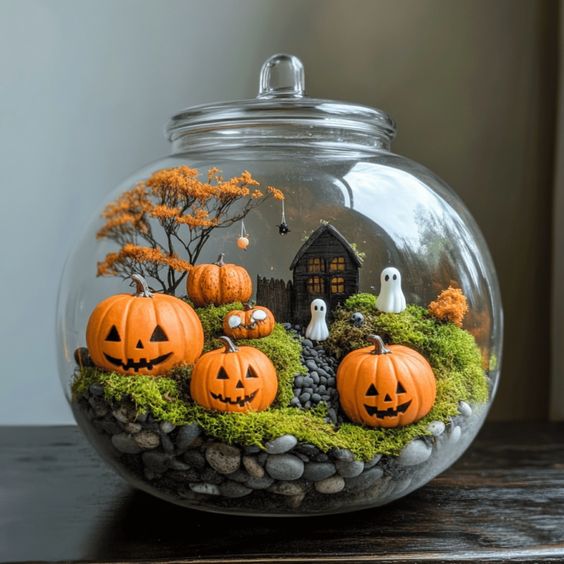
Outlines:
{"type": "Polygon", "coordinates": [[[391,113],[394,150],[466,201],[506,310],[493,417],[545,418],[556,14],[532,0],[0,1],[0,424],[72,421],[53,329],[75,234],[167,152],[172,113],[254,96],[278,51],[302,58],[310,94],[391,113]]]}

